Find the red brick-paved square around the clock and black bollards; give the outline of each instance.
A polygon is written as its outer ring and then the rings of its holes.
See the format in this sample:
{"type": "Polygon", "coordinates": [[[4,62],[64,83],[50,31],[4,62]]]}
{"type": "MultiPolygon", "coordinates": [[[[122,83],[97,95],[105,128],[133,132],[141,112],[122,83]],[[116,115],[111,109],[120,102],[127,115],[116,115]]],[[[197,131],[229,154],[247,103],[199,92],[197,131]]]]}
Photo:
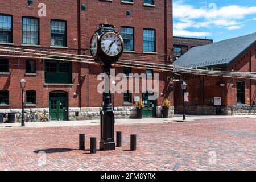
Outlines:
{"type": "Polygon", "coordinates": [[[117,125],[117,130],[122,131],[123,147],[89,154],[89,137],[99,142],[99,126],[0,129],[0,169],[256,169],[255,119],[117,125]],[[79,133],[86,135],[85,151],[77,150],[79,133]],[[137,134],[137,151],[129,151],[130,134],[137,134]]]}

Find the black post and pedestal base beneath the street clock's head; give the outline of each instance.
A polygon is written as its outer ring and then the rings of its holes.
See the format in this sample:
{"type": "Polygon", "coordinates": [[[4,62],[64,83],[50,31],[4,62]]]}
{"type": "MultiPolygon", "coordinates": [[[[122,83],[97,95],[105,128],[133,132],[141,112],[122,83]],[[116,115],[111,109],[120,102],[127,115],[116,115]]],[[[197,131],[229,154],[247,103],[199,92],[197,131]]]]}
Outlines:
{"type": "MultiPolygon", "coordinates": [[[[111,64],[102,66],[103,72],[110,76],[111,64]]],[[[104,106],[101,115],[100,150],[115,150],[114,142],[114,111],[110,105],[110,92],[103,93],[104,106]]]]}

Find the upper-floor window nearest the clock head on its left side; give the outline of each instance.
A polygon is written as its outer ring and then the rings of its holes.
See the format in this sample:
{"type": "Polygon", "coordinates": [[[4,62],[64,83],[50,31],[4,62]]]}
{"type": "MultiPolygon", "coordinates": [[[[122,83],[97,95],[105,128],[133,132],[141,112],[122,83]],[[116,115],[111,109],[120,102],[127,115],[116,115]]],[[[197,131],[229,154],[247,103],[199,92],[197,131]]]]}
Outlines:
{"type": "Polygon", "coordinates": [[[63,20],[51,20],[51,46],[67,46],[67,23],[63,20]]]}

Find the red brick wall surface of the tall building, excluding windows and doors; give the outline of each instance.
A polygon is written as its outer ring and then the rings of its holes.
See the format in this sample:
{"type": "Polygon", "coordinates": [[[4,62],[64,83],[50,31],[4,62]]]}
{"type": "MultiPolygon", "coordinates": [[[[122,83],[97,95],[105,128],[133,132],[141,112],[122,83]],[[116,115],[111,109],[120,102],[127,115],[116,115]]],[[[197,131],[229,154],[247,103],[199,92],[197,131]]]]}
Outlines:
{"type": "MultiPolygon", "coordinates": [[[[89,55],[89,41],[97,29],[98,24],[104,23],[108,18],[108,23],[114,24],[120,31],[121,26],[133,26],[135,29],[135,52],[123,53],[122,59],[149,61],[154,63],[164,63],[171,61],[172,55],[172,0],[155,1],[155,7],[144,7],[143,1],[135,1],[134,5],[121,4],[120,1],[85,1],[81,0],[80,5],[87,5],[86,11],[81,11],[81,53],[89,55]],[[164,5],[167,3],[167,6],[164,5]],[[131,10],[131,15],[126,16],[126,10],[131,10]],[[156,30],[156,54],[143,53],[143,28],[154,28],[156,30]]],[[[27,6],[27,0],[1,1],[0,14],[13,15],[13,42],[15,47],[40,49],[52,52],[79,53],[78,36],[78,8],[79,1],[51,1],[35,0],[31,7],[27,6]],[[38,4],[46,4],[46,17],[38,16],[38,4]],[[22,44],[22,16],[34,16],[40,19],[40,48],[21,46],[22,44]],[[51,19],[61,19],[67,21],[67,46],[68,49],[50,48],[51,19]]],[[[79,7],[80,9],[80,7],[79,7]]],[[[1,44],[0,44],[1,45],[1,44]]],[[[3,46],[3,45],[1,45],[3,46]]],[[[44,85],[44,60],[37,60],[37,75],[25,76],[25,59],[10,59],[10,75],[0,75],[0,90],[10,91],[10,108],[20,108],[21,90],[19,81],[24,77],[27,81],[26,90],[36,90],[37,107],[48,107],[49,92],[53,90],[63,90],[69,93],[69,107],[79,107],[79,92],[81,87],[81,107],[101,106],[102,96],[97,93],[97,75],[101,73],[101,68],[96,65],[73,63],[73,86],[45,86],[44,85]],[[81,71],[81,75],[79,74],[81,71]],[[79,85],[79,79],[80,85],[79,85]],[[76,96],[73,93],[77,93],[76,96]]],[[[118,68],[122,72],[122,68],[118,68]]],[[[144,72],[133,69],[133,72],[144,72]]],[[[164,90],[166,73],[160,75],[160,90],[158,105],[163,97],[169,97],[172,102],[172,93],[164,90]],[[160,93],[164,96],[160,97],[160,93]]],[[[168,83],[167,83],[168,84],[168,83]]],[[[141,95],[141,94],[140,94],[141,95]]],[[[115,105],[123,106],[123,94],[115,96],[115,105]]],[[[134,94],[133,94],[134,97],[134,94]]]]}

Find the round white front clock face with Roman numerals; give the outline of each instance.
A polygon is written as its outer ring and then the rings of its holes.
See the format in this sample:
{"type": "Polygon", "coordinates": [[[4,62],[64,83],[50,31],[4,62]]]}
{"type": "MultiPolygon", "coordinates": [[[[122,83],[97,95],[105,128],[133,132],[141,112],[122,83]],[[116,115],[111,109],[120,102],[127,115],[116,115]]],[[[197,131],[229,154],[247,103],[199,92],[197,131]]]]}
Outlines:
{"type": "Polygon", "coordinates": [[[108,32],[101,39],[101,49],[108,56],[116,56],[122,51],[123,42],[119,35],[108,32]]]}

